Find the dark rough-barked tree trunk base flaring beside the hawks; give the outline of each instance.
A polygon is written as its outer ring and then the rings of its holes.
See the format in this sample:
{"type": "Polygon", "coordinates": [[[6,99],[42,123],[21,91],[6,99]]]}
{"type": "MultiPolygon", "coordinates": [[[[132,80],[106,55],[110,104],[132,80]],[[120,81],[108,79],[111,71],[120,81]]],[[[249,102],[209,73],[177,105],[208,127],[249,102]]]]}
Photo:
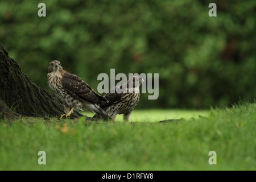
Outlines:
{"type": "MultiPolygon", "coordinates": [[[[47,76],[46,76],[47,81],[47,76]]],[[[60,117],[63,106],[46,90],[36,86],[0,44],[0,118],[60,117]]],[[[71,118],[82,114],[74,111],[71,118]]]]}

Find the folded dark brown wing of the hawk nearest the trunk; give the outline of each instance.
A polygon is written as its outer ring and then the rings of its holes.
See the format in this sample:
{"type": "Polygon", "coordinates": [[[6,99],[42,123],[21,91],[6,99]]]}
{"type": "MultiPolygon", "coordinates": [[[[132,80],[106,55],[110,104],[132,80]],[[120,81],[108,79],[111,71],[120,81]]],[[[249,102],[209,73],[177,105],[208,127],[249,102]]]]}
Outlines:
{"type": "Polygon", "coordinates": [[[65,73],[61,80],[63,88],[74,98],[80,98],[92,104],[108,102],[106,98],[96,93],[90,85],[86,84],[80,77],[71,73],[65,73]]]}

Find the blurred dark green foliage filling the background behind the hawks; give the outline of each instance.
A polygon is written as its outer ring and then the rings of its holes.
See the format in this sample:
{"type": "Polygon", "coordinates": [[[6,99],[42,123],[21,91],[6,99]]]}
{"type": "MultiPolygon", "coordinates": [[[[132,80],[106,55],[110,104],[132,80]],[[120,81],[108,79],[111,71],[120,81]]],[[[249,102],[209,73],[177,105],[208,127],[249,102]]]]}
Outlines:
{"type": "MultiPolygon", "coordinates": [[[[256,1],[45,0],[0,2],[0,40],[49,91],[60,60],[94,90],[100,73],[159,73],[159,98],[137,108],[204,108],[256,95],[256,1]],[[209,3],[217,5],[210,17],[209,3]]],[[[119,82],[119,81],[117,81],[119,82]]],[[[117,83],[116,82],[116,83],[117,83]]]]}

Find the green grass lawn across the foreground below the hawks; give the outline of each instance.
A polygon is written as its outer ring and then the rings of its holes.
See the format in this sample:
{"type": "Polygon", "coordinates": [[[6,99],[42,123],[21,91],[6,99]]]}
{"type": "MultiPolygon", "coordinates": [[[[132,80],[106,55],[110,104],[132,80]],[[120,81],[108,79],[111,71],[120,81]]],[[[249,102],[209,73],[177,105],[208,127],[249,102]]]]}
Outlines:
{"type": "Polygon", "coordinates": [[[129,123],[3,120],[0,170],[255,170],[255,110],[246,102],[210,111],[135,110],[129,123]],[[46,165],[38,164],[39,151],[46,165]]]}

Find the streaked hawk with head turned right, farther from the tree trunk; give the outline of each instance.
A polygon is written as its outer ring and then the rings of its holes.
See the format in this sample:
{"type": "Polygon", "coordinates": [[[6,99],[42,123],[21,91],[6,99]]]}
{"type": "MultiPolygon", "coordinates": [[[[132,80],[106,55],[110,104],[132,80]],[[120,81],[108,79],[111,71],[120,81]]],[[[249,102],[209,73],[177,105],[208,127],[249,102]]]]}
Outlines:
{"type": "MultiPolygon", "coordinates": [[[[139,102],[139,86],[142,82],[144,82],[142,77],[133,76],[125,84],[115,86],[105,94],[104,98],[109,102],[101,107],[113,121],[117,114],[123,114],[123,120],[129,121],[131,112],[139,102]]],[[[94,117],[97,117],[97,114],[94,117]]]]}

